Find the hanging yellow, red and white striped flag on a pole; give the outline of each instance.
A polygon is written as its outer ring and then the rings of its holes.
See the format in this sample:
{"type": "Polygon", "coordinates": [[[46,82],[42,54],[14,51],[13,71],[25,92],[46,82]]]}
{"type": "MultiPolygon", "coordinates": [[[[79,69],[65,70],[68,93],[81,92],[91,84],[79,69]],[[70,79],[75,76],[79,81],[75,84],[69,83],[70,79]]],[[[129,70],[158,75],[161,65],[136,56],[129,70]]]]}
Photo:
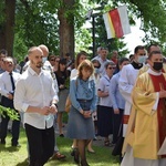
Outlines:
{"type": "Polygon", "coordinates": [[[131,33],[126,6],[118,7],[103,14],[107,39],[122,38],[131,33]]]}

